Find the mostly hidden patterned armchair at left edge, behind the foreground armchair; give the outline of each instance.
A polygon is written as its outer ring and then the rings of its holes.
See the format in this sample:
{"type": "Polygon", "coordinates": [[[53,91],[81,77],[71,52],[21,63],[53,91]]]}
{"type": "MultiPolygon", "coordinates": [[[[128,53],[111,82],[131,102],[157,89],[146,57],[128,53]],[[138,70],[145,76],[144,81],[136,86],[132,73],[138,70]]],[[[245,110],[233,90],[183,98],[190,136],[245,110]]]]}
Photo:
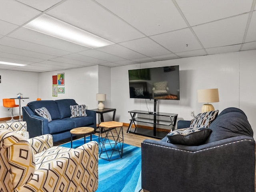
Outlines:
{"type": "Polygon", "coordinates": [[[8,129],[18,132],[18,134],[21,134],[25,138],[29,139],[26,121],[0,123],[0,129],[8,129]]]}

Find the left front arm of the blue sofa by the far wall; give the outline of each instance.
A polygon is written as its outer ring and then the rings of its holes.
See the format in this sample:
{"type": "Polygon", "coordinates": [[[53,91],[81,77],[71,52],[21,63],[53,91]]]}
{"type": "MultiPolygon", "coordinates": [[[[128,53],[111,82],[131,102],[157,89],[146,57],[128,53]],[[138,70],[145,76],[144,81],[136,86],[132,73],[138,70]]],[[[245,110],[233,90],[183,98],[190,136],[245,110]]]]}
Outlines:
{"type": "Polygon", "coordinates": [[[28,106],[22,107],[22,119],[27,123],[30,137],[49,134],[48,120],[34,114],[28,106]]]}

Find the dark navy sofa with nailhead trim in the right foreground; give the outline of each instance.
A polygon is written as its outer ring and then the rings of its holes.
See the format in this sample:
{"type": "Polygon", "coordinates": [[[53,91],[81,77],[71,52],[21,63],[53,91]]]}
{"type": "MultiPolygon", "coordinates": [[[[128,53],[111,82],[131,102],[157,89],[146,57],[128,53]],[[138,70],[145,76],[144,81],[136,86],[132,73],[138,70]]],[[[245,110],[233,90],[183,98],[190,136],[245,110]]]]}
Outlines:
{"type": "MultiPolygon", "coordinates": [[[[177,128],[190,121],[180,120],[177,128]]],[[[226,108],[200,146],[144,140],[142,188],[150,192],[254,192],[255,141],[244,112],[226,108]]]]}

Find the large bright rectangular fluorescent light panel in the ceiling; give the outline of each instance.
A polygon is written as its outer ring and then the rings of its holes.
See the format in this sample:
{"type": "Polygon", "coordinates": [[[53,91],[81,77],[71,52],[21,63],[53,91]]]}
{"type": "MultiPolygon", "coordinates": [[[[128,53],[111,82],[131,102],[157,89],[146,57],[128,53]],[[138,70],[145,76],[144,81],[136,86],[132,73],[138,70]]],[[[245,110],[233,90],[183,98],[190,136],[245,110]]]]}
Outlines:
{"type": "Polygon", "coordinates": [[[42,14],[23,27],[88,48],[98,48],[114,44],[46,14],[42,14]]]}

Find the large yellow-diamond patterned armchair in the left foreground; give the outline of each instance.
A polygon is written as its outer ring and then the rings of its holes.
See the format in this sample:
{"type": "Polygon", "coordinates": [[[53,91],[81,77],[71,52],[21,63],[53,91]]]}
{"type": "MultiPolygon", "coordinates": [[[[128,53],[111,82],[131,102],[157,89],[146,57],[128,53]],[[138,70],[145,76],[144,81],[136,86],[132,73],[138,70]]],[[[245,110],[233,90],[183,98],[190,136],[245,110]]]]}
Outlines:
{"type": "Polygon", "coordinates": [[[98,188],[98,144],[53,146],[50,134],[27,140],[0,129],[0,191],[55,192],[98,188]]]}

